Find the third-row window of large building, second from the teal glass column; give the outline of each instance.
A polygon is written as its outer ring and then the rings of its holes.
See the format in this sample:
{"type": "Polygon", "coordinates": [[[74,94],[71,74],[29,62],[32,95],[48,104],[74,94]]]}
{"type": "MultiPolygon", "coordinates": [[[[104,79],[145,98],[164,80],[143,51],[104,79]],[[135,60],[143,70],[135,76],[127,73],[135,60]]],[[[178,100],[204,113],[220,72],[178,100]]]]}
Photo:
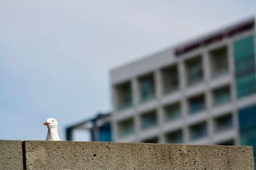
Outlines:
{"type": "Polygon", "coordinates": [[[189,137],[191,140],[203,138],[207,136],[207,124],[206,122],[202,122],[200,124],[191,125],[189,127],[189,137]]]}

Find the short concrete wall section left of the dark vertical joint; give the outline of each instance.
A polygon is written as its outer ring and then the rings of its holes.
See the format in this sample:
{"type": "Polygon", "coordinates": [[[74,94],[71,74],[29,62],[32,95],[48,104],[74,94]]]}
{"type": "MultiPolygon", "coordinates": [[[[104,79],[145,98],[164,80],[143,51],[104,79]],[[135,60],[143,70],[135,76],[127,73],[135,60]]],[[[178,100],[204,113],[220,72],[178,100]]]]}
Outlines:
{"type": "Polygon", "coordinates": [[[23,169],[21,141],[0,140],[0,169],[23,169]]]}

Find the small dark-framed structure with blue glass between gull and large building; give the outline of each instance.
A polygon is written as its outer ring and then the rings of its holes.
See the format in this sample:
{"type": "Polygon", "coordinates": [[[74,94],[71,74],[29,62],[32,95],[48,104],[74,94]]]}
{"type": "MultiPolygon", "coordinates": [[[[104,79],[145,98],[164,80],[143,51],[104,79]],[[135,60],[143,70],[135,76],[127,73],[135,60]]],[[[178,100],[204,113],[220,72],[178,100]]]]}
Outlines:
{"type": "Polygon", "coordinates": [[[74,132],[90,132],[90,141],[112,141],[111,113],[98,113],[94,118],[86,119],[66,128],[67,141],[74,140],[74,132]]]}

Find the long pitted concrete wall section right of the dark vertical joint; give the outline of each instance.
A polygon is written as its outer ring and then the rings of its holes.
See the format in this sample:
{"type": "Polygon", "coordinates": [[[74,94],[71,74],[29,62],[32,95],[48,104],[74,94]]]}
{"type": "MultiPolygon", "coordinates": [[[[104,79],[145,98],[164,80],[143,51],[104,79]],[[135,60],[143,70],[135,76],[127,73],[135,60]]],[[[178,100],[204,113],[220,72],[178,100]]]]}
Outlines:
{"type": "Polygon", "coordinates": [[[252,147],[25,141],[27,169],[254,169],[252,147]]]}

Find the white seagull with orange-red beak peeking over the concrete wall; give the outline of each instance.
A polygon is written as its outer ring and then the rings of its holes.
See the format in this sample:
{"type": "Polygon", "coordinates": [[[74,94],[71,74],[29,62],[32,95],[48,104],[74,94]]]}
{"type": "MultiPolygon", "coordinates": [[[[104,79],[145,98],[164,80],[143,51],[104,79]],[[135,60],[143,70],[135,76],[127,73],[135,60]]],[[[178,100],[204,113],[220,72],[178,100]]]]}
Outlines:
{"type": "Polygon", "coordinates": [[[58,135],[58,122],[55,118],[47,118],[44,125],[47,126],[48,132],[46,136],[46,141],[60,141],[60,137],[58,135]]]}

